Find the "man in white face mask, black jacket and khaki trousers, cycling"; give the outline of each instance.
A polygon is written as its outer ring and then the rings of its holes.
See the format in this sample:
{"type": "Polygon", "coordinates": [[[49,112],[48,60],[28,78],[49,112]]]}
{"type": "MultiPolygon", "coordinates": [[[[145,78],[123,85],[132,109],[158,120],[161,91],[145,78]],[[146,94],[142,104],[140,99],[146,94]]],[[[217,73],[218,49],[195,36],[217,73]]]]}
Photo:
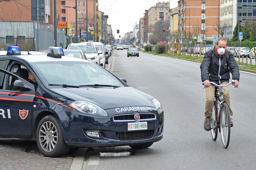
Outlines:
{"type": "MultiPolygon", "coordinates": [[[[214,104],[215,86],[210,85],[210,82],[227,84],[229,82],[231,72],[232,79],[235,80],[234,86],[238,87],[239,85],[239,68],[233,54],[230,51],[226,51],[226,47],[226,39],[223,37],[219,38],[215,47],[206,52],[203,62],[200,65],[201,79],[206,89],[206,103],[204,112],[204,116],[206,116],[204,120],[204,130],[206,131],[211,130],[210,123],[214,104]]],[[[230,116],[233,116],[233,112],[230,108],[229,86],[223,88],[225,88],[224,101],[227,103],[230,116]]],[[[230,126],[233,126],[231,119],[230,126]]]]}

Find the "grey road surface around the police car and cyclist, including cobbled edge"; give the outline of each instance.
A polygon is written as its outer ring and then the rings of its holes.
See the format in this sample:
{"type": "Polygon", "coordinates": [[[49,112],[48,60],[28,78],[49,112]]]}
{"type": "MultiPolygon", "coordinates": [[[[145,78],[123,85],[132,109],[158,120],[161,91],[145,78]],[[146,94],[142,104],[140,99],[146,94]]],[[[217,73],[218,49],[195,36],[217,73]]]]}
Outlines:
{"type": "Polygon", "coordinates": [[[220,134],[212,141],[210,132],[203,129],[206,97],[199,66],[143,52],[140,57],[128,58],[126,50],[114,50],[106,68],[161,102],[163,139],[148,149],[79,149],[61,158],[44,157],[35,142],[0,139],[0,169],[255,169],[256,74],[240,72],[239,89],[230,87],[234,127],[225,149],[220,134]],[[102,152],[121,151],[133,155],[99,157],[102,152]]]}

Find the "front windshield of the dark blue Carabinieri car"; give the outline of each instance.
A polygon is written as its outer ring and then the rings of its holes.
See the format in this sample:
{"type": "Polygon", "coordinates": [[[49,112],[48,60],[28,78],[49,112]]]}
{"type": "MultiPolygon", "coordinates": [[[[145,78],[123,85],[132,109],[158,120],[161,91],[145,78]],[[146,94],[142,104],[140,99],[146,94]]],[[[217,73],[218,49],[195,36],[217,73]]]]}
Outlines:
{"type": "MultiPolygon", "coordinates": [[[[124,87],[123,84],[103,67],[92,62],[52,61],[32,62],[44,84],[65,84],[63,87],[85,87],[101,84],[101,87],[124,87]]],[[[58,86],[51,86],[60,88],[58,86]]]]}

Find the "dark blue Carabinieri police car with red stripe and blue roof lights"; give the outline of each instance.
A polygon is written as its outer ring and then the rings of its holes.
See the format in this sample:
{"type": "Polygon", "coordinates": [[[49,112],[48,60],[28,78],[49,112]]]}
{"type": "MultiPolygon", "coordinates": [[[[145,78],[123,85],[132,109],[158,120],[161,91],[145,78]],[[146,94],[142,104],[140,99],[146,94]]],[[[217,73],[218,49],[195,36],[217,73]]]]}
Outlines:
{"type": "Polygon", "coordinates": [[[46,157],[70,147],[150,147],[163,138],[163,110],[152,96],[89,60],[0,56],[0,138],[31,138],[46,157]]]}

